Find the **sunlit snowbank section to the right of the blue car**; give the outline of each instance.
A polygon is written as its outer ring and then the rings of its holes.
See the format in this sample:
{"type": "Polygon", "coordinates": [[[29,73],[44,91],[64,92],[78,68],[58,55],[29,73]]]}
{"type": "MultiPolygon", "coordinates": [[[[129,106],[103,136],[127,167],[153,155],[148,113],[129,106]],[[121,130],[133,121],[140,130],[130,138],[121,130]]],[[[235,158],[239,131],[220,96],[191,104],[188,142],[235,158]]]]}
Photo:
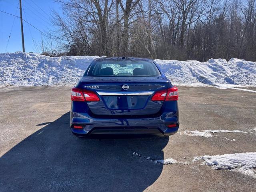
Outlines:
{"type": "Polygon", "coordinates": [[[232,58],[195,60],[155,60],[174,84],[256,85],[256,62],[232,58]]]}

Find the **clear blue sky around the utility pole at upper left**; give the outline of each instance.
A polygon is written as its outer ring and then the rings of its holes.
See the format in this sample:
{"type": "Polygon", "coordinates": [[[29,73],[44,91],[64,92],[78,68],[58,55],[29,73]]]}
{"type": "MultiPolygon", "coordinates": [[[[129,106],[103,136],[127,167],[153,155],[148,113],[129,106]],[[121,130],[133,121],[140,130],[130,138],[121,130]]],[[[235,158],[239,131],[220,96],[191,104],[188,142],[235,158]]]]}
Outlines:
{"type": "MultiPolygon", "coordinates": [[[[53,28],[50,19],[52,10],[61,12],[60,4],[54,2],[54,0],[22,0],[22,7],[23,19],[43,32],[47,32],[47,28],[53,28]]],[[[0,0],[0,10],[13,15],[16,13],[16,16],[20,16],[19,0],[0,0]]],[[[32,26],[29,26],[26,22],[23,22],[23,29],[25,52],[38,52],[34,46],[32,38],[34,39],[34,42],[39,45],[41,40],[41,32],[32,26]]],[[[16,51],[22,51],[20,18],[0,12],[0,52],[16,51]],[[6,50],[11,28],[12,34],[6,50]]]]}

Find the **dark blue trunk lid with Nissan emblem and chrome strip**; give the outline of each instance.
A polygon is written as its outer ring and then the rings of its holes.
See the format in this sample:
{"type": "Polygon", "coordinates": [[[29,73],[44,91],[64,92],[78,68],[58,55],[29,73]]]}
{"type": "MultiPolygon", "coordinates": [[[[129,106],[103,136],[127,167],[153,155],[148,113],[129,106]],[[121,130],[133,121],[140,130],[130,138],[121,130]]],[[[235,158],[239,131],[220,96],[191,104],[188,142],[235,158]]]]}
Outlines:
{"type": "Polygon", "coordinates": [[[152,101],[154,92],[168,88],[164,77],[83,77],[77,88],[94,91],[99,102],[87,102],[98,116],[139,116],[159,112],[162,101],[152,101]]]}

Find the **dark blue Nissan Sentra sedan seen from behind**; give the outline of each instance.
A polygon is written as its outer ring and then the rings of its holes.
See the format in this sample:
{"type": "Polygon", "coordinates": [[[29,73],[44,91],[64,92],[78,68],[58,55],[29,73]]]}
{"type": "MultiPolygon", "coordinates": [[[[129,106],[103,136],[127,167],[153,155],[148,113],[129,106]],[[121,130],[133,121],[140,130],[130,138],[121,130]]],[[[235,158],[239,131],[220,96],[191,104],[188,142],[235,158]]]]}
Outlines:
{"type": "Polygon", "coordinates": [[[79,137],[173,135],[178,88],[146,58],[98,58],[71,90],[70,127],[79,137]]]}

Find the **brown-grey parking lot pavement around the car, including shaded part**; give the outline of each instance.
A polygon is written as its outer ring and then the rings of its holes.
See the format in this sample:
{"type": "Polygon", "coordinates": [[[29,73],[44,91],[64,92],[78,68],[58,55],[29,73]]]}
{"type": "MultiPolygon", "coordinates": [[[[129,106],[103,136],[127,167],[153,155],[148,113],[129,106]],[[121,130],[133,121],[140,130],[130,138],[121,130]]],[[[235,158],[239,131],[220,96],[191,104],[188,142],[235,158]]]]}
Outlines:
{"type": "Polygon", "coordinates": [[[179,89],[174,136],[97,140],[71,134],[70,87],[0,88],[0,191],[256,191],[254,177],[192,161],[256,152],[256,93],[179,89]],[[186,130],[246,133],[206,138],[186,130]],[[186,163],[154,162],[168,158],[186,163]]]}

